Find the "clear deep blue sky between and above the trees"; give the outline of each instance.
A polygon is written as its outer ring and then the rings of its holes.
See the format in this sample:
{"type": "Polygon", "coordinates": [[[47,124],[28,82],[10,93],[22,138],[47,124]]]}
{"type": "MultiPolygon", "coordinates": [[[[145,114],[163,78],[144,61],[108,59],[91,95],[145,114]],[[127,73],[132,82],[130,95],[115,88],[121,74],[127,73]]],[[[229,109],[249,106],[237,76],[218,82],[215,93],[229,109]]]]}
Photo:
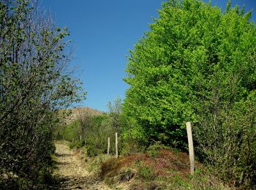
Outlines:
{"type": "MultiPolygon", "coordinates": [[[[88,92],[80,105],[107,110],[107,102],[124,99],[129,87],[126,76],[127,56],[138,39],[148,31],[148,23],[157,18],[164,0],[41,0],[50,9],[57,26],[68,26],[75,47],[78,77],[88,92]]],[[[256,9],[255,0],[233,0],[233,5],[245,4],[246,11],[256,9]]],[[[225,7],[227,0],[212,0],[225,7]]],[[[256,13],[252,17],[255,19],[256,13]]]]}

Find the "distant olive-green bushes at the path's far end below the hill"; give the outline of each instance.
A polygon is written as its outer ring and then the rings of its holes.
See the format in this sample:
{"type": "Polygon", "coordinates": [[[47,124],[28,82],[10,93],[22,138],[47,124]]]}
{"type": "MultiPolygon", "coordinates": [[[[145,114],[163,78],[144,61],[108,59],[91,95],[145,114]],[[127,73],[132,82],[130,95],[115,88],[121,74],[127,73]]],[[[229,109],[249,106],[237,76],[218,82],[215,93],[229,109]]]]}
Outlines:
{"type": "Polygon", "coordinates": [[[108,137],[110,137],[112,141],[111,152],[114,152],[115,132],[111,128],[108,115],[102,113],[102,115],[84,117],[82,113],[80,114],[72,123],[59,126],[55,132],[56,138],[69,140],[72,142],[70,144],[72,148],[86,145],[88,156],[97,156],[100,153],[106,153],[108,137]]]}

